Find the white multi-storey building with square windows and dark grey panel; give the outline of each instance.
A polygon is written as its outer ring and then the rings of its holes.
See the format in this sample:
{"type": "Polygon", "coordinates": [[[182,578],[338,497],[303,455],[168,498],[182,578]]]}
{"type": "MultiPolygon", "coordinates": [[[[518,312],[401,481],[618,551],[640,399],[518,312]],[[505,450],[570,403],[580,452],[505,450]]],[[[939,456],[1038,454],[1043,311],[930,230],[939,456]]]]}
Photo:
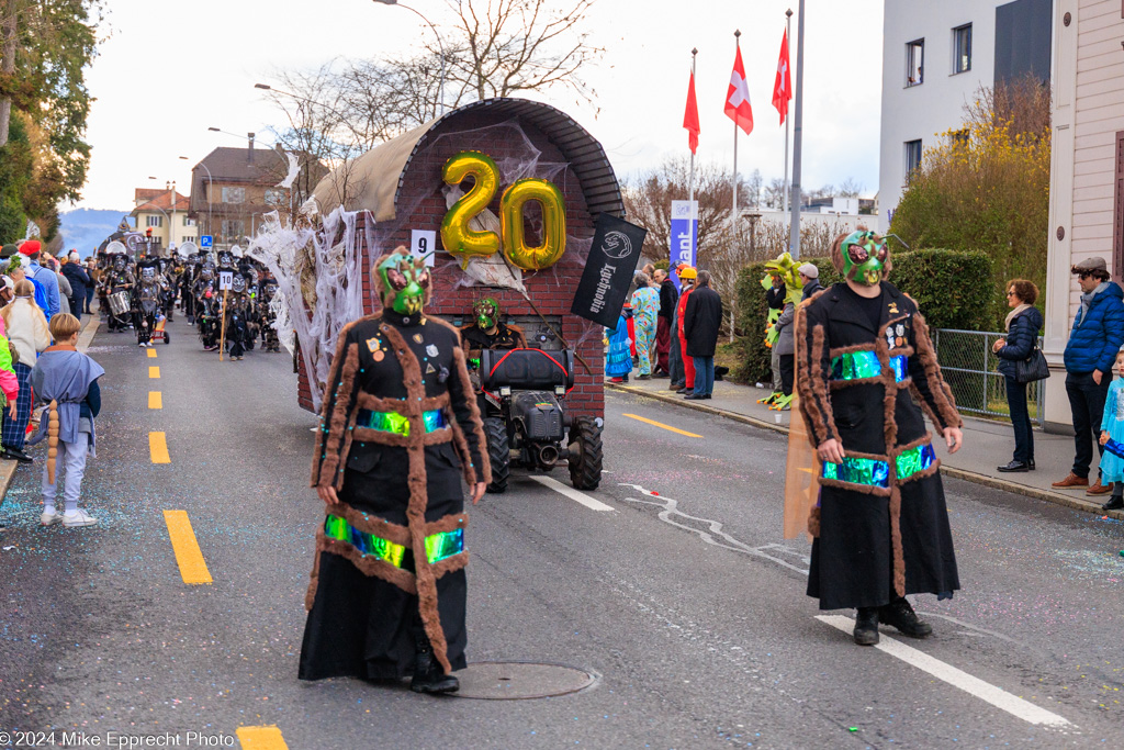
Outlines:
{"type": "Polygon", "coordinates": [[[982,87],[1051,70],[1055,0],[886,0],[879,228],[925,150],[963,121],[982,87]]]}

